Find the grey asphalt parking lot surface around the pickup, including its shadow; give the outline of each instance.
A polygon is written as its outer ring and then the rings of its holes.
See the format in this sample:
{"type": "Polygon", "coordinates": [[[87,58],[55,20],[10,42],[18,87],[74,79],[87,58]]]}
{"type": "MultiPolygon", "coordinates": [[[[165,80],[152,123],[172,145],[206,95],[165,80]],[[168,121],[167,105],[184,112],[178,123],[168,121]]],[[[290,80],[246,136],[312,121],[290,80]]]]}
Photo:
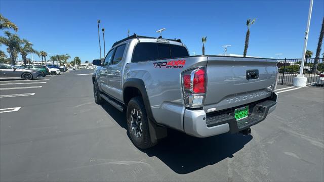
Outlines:
{"type": "Polygon", "coordinates": [[[94,103],[92,72],[0,81],[1,181],[324,181],[323,88],[278,85],[249,136],[170,130],[139,150],[125,115],[94,103]]]}

